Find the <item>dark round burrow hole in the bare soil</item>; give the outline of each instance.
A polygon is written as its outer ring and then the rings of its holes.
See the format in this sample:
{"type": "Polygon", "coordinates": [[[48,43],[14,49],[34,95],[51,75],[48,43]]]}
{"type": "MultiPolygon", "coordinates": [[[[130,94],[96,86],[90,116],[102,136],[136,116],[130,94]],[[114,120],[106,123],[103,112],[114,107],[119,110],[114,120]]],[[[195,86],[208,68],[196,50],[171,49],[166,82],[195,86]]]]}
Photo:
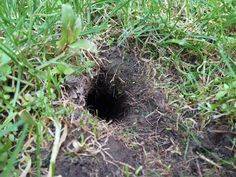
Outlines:
{"type": "Polygon", "coordinates": [[[106,72],[101,72],[92,82],[86,98],[86,107],[93,115],[106,121],[120,120],[126,110],[126,96],[122,85],[106,72]]]}

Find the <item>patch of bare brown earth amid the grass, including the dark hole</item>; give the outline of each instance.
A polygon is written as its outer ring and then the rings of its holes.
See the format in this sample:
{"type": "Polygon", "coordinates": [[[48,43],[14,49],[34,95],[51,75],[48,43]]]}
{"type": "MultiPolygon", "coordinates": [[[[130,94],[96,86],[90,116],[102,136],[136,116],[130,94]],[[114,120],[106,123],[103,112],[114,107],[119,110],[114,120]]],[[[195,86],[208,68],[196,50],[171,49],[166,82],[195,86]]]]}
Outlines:
{"type": "MultiPolygon", "coordinates": [[[[67,81],[68,100],[77,110],[57,157],[57,175],[204,176],[206,165],[219,176],[235,174],[215,166],[201,145],[190,143],[184,158],[186,134],[177,131],[167,96],[149,77],[147,68],[153,63],[119,48],[103,48],[99,62],[93,79],[67,81]]],[[[207,148],[219,147],[219,141],[207,148]]]]}

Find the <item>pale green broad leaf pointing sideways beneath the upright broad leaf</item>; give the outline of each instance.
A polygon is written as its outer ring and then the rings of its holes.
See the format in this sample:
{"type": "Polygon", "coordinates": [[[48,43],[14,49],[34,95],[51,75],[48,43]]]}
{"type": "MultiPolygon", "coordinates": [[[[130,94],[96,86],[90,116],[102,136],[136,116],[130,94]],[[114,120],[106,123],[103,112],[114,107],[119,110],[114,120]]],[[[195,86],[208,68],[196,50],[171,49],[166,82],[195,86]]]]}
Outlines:
{"type": "Polygon", "coordinates": [[[84,49],[94,53],[97,52],[97,46],[93,42],[86,39],[77,40],[77,42],[71,44],[69,47],[71,49],[84,49]]]}

